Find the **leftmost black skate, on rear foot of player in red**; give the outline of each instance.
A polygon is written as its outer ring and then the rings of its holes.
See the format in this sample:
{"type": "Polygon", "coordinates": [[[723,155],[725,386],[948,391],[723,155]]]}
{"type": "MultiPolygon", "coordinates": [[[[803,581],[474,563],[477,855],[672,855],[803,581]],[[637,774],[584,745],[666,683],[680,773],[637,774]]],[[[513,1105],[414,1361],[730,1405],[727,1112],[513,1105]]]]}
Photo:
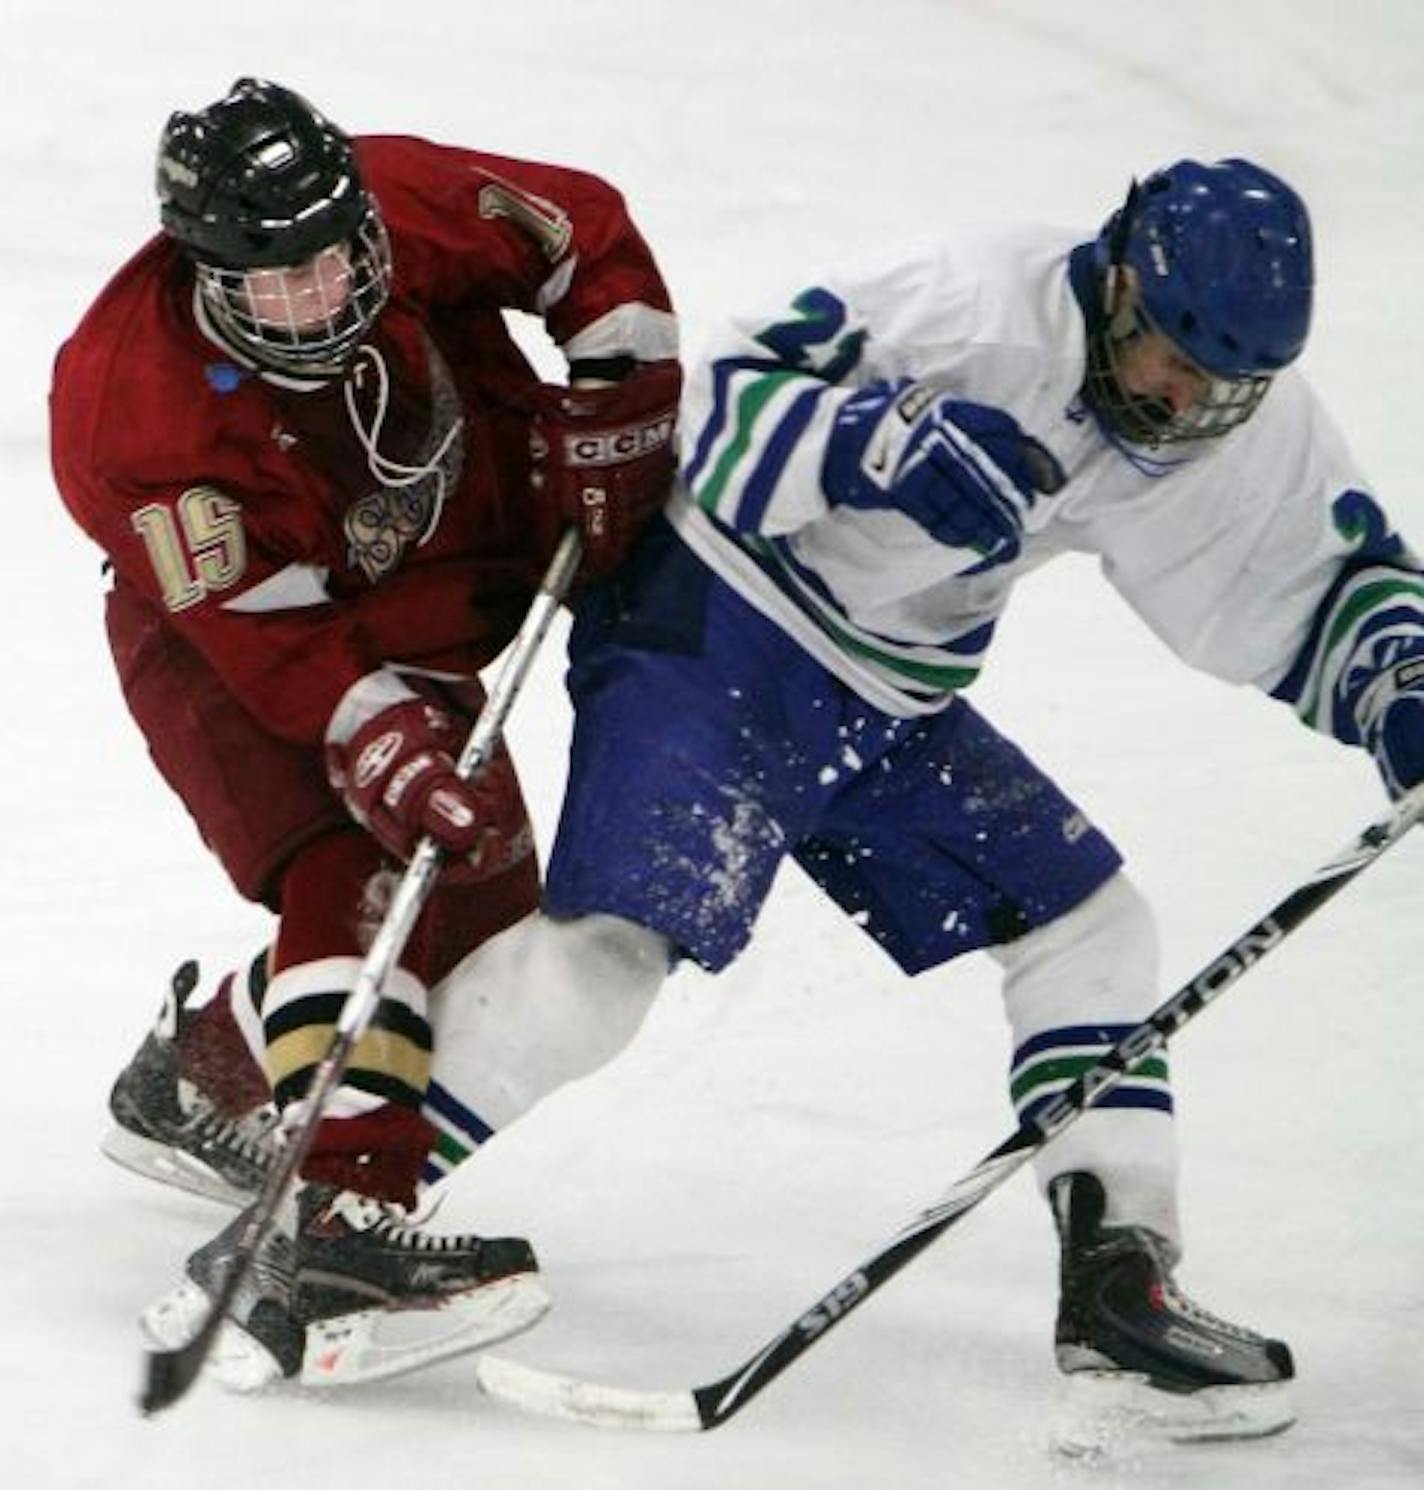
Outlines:
{"type": "Polygon", "coordinates": [[[277,1113],[264,1106],[228,1116],[179,1073],[177,1036],[192,1018],[186,1001],[197,983],[197,963],[183,963],[173,974],[156,1024],[113,1083],[115,1128],[101,1147],[136,1174],[246,1205],[277,1152],[277,1113]]]}

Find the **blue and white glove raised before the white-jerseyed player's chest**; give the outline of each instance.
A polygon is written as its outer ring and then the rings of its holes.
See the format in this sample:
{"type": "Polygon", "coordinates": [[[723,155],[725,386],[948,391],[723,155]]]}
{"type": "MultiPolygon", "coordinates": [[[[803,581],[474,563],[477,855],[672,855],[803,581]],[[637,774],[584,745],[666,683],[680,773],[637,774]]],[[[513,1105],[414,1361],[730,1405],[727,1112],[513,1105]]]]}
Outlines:
{"type": "Polygon", "coordinates": [[[1002,410],[900,380],[868,383],[842,405],[821,484],[833,507],[904,513],[938,542],[980,554],[977,571],[1017,557],[1025,516],[1064,472],[1002,410]]]}

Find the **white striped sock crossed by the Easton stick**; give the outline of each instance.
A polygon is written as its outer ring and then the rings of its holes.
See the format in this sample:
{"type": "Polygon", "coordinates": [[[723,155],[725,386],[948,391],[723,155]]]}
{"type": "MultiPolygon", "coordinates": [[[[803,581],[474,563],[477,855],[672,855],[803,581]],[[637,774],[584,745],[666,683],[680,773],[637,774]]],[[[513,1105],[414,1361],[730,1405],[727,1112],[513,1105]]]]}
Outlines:
{"type": "MultiPolygon", "coordinates": [[[[1122,873],[1065,916],[994,949],[1013,1030],[1010,1091],[1022,1118],[1069,1086],[1157,1003],[1157,936],[1122,873]]],[[[1107,1189],[1107,1225],[1141,1225],[1180,1249],[1177,1131],[1165,1058],[1153,1058],[1035,1159],[1040,1188],[1090,1170],[1107,1189]]]]}

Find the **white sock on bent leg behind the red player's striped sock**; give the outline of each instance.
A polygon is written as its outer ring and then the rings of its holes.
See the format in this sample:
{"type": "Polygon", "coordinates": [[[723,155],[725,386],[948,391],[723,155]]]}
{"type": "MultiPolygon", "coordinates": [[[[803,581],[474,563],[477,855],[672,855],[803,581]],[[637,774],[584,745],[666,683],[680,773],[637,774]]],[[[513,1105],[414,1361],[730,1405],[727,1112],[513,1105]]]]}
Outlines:
{"type": "Polygon", "coordinates": [[[430,992],[435,1061],[425,1115],[438,1179],[539,1098],[611,1061],[667,976],[669,946],[620,916],[532,915],[430,992]]]}

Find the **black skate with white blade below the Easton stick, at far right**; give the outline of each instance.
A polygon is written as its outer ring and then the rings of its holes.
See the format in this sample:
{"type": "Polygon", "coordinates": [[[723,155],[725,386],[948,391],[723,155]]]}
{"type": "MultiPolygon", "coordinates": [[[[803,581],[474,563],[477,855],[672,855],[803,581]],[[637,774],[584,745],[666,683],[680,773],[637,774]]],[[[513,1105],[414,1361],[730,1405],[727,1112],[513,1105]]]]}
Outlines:
{"type": "Polygon", "coordinates": [[[1050,1189],[1062,1241],[1058,1366],[1131,1426],[1171,1439],[1259,1438],[1294,1421],[1284,1341],[1208,1314],[1172,1281],[1172,1249],[1142,1226],[1104,1226],[1096,1176],[1050,1189]]]}

